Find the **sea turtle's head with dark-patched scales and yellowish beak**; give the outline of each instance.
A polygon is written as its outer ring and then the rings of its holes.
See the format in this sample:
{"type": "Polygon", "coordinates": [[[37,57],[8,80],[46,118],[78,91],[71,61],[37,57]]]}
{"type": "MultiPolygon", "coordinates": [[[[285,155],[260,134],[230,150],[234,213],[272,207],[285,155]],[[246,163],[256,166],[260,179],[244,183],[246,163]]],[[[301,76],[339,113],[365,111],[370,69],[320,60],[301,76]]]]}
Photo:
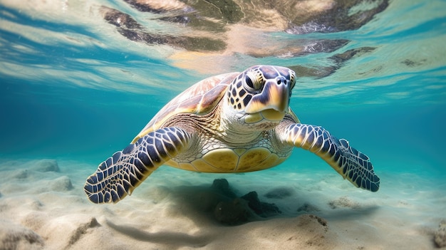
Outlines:
{"type": "Polygon", "coordinates": [[[279,66],[252,66],[235,78],[227,92],[229,105],[243,123],[277,124],[289,110],[296,73],[279,66]]]}

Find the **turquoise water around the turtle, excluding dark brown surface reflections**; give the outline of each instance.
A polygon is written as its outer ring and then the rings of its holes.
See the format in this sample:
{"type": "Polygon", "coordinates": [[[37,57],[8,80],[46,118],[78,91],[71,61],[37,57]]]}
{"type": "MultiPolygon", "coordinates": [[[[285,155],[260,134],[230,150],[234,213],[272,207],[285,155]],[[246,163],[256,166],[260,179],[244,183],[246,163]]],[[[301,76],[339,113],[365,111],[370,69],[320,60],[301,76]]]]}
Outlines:
{"type": "MultiPolygon", "coordinates": [[[[446,1],[390,1],[363,26],[346,31],[262,33],[269,43],[296,46],[348,40],[333,51],[294,56],[199,51],[181,60],[175,55],[185,48],[121,36],[102,19],[101,5],[131,14],[150,32],[198,32],[182,31],[180,24],[157,21],[152,19],[157,14],[119,1],[41,6],[0,1],[1,157],[95,165],[125,147],[168,100],[209,75],[253,64],[319,72],[331,67],[325,75],[296,71],[301,77],[290,105],[301,121],[348,139],[373,160],[378,175],[419,172],[444,183],[446,1]],[[336,60],[355,49],[363,51],[336,60]],[[212,72],[194,68],[200,56],[214,63],[212,72]]],[[[295,152],[281,170],[296,162],[311,168],[315,159],[295,152]]]]}

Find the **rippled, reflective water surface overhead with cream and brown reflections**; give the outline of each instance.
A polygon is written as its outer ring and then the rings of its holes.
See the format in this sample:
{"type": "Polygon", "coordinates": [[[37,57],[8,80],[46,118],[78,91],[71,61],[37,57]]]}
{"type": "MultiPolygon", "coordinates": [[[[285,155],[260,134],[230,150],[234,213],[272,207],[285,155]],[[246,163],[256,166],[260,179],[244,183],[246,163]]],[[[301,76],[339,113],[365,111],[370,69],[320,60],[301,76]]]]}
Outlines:
{"type": "MultiPolygon", "coordinates": [[[[204,1],[4,1],[1,49],[6,57],[0,72],[44,84],[179,93],[209,75],[275,64],[298,73],[295,97],[348,98],[351,93],[383,104],[410,102],[413,96],[395,99],[382,88],[403,78],[424,73],[437,78],[434,84],[443,82],[435,76],[445,73],[446,58],[439,1],[418,6],[385,0],[279,1],[274,9],[260,1],[251,1],[255,9],[242,1],[232,4],[222,9],[204,1]],[[408,19],[411,14],[417,18],[408,19]],[[81,71],[83,66],[89,71],[81,71]],[[57,79],[63,75],[61,83],[57,79]]],[[[392,91],[413,93],[420,87],[425,84],[399,84],[392,91]]],[[[441,100],[442,94],[426,89],[424,101],[441,100]]]]}

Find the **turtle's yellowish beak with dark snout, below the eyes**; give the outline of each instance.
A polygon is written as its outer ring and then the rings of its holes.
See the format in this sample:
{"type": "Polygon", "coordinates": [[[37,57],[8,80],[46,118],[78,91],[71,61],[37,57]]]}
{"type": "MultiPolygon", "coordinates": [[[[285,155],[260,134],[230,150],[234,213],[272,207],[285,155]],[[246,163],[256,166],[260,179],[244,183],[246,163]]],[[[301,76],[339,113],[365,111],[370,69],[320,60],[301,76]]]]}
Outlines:
{"type": "Polygon", "coordinates": [[[259,113],[264,110],[275,110],[285,115],[289,105],[289,85],[281,77],[267,80],[261,93],[254,95],[245,108],[245,113],[259,113]]]}

